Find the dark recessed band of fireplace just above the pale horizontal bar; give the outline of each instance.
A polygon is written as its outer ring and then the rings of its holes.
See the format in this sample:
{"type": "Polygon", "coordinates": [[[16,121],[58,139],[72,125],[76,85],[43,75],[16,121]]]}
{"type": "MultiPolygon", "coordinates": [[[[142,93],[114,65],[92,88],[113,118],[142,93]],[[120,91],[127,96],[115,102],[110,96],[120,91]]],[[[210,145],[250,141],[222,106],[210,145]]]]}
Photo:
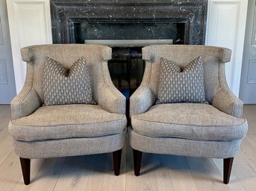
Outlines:
{"type": "Polygon", "coordinates": [[[72,43],[84,40],[172,39],[173,44],[189,43],[189,19],[72,20],[72,43]]]}

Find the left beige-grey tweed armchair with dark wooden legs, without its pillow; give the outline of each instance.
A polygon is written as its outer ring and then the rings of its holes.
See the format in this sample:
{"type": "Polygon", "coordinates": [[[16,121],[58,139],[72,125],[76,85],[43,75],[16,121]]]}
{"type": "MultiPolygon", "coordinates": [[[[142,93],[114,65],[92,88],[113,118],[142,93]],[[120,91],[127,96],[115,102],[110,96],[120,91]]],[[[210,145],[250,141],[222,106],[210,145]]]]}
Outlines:
{"type": "Polygon", "coordinates": [[[119,175],[126,137],[125,97],[114,87],[107,68],[111,48],[102,45],[35,45],[22,48],[27,74],[11,103],[9,132],[19,155],[25,184],[33,158],[57,158],[113,152],[119,175]],[[70,68],[84,56],[96,105],[45,106],[43,71],[46,56],[70,68]]]}

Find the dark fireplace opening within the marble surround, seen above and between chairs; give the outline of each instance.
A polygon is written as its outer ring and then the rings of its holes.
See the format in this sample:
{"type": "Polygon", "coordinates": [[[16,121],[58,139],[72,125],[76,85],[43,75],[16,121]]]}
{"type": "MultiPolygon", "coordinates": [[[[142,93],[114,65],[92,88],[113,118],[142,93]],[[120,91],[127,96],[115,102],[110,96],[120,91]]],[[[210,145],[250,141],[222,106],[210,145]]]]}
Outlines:
{"type": "Polygon", "coordinates": [[[142,48],[146,45],[187,44],[187,19],[158,20],[73,20],[74,43],[112,47],[108,62],[113,84],[127,99],[139,87],[145,63],[142,48]]]}

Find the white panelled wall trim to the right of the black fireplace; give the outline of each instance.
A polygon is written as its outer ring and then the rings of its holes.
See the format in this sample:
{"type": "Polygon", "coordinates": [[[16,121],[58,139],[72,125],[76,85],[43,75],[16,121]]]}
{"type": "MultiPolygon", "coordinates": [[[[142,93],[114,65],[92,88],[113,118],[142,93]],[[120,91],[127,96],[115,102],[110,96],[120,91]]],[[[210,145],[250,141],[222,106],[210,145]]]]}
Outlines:
{"type": "Polygon", "coordinates": [[[208,1],[205,45],[232,50],[231,63],[225,65],[225,74],[229,88],[237,96],[243,62],[247,4],[248,0],[208,1]]]}

